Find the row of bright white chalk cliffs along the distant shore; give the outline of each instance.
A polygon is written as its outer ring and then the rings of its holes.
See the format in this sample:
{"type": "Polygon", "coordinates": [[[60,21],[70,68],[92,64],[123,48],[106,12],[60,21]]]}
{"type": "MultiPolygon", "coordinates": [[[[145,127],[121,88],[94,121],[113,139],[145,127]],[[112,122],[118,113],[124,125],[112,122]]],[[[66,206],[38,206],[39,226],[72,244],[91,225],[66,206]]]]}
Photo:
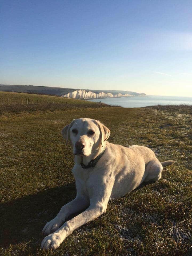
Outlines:
{"type": "Polygon", "coordinates": [[[72,98],[72,99],[90,99],[90,98],[114,98],[114,97],[127,97],[127,96],[133,96],[131,94],[121,94],[118,93],[116,95],[113,95],[112,93],[104,93],[101,92],[99,94],[94,93],[93,91],[86,91],[86,90],[77,90],[73,91],[71,93],[62,95],[61,97],[66,97],[66,98],[72,98]]]}

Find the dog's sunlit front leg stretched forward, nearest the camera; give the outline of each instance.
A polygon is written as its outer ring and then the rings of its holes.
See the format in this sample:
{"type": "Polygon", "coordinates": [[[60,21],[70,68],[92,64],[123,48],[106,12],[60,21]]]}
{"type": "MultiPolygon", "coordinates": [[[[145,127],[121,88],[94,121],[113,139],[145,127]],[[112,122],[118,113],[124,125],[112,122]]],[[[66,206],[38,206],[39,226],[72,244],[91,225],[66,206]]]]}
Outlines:
{"type": "MultiPolygon", "coordinates": [[[[106,184],[105,184],[106,185],[106,184]]],[[[82,225],[96,219],[106,212],[107,203],[111,195],[112,187],[105,186],[105,189],[101,189],[102,196],[96,195],[90,199],[90,206],[87,210],[83,211],[73,219],[65,222],[54,233],[46,236],[42,243],[42,249],[57,249],[63,240],[70,235],[75,229],[82,225]]]]}

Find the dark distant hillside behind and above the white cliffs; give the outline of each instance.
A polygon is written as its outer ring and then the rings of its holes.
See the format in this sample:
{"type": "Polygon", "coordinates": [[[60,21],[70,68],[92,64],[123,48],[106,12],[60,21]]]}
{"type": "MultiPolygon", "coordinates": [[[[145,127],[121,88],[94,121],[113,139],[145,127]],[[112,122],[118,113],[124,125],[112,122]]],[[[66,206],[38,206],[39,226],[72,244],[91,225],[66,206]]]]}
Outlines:
{"type": "MultiPolygon", "coordinates": [[[[73,91],[76,91],[78,89],[72,89],[72,88],[61,88],[61,87],[48,87],[48,86],[33,86],[33,85],[0,85],[0,91],[12,91],[12,92],[23,92],[23,93],[41,93],[41,94],[51,94],[51,95],[65,95],[68,93],[71,93],[73,91]]],[[[87,92],[92,91],[94,93],[112,93],[113,95],[116,95],[118,93],[121,94],[130,94],[133,96],[145,96],[145,93],[136,93],[133,91],[114,91],[114,90],[87,90],[84,89],[87,92]]]]}

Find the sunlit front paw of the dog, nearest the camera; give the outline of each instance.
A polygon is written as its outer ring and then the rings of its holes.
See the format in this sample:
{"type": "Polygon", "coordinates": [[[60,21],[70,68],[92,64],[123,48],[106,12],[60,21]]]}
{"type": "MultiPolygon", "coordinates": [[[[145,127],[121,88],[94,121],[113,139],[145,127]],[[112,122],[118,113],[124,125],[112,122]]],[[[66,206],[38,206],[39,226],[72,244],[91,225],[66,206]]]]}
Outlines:
{"type": "Polygon", "coordinates": [[[53,233],[50,235],[47,235],[42,243],[41,243],[41,249],[57,249],[59,247],[59,245],[63,242],[63,240],[61,239],[61,235],[59,235],[58,233],[53,233]]]}

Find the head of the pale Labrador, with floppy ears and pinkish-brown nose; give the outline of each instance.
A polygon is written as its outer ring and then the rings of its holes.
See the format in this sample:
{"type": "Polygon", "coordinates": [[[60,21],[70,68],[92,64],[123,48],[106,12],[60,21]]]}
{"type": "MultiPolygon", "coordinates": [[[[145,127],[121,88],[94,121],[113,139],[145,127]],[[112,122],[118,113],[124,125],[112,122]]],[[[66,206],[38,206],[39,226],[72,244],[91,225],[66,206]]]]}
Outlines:
{"type": "Polygon", "coordinates": [[[105,147],[110,130],[97,120],[81,118],[65,126],[61,134],[66,144],[70,140],[74,155],[89,156],[99,147],[105,147]]]}

